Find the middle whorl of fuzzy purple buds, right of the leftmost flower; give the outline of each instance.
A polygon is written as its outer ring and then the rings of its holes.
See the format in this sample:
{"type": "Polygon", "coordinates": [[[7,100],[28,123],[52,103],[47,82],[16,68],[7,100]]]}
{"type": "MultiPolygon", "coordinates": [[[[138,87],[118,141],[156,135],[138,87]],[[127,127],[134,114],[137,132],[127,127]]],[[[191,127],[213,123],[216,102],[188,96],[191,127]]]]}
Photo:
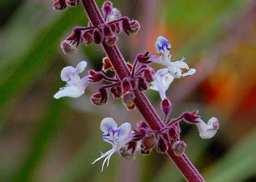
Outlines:
{"type": "Polygon", "coordinates": [[[105,80],[111,84],[101,86],[98,93],[91,96],[92,103],[97,106],[105,104],[108,95],[107,89],[109,88],[115,99],[120,98],[123,101],[124,106],[126,106],[129,110],[134,109],[135,92],[148,90],[148,83],[154,79],[154,71],[152,68],[141,65],[137,69],[137,64],[137,59],[134,61],[133,65],[127,63],[131,76],[120,80],[117,75],[110,78],[103,73],[107,72],[108,70],[114,71],[109,59],[107,57],[103,58],[102,71],[90,70],[89,79],[91,82],[105,80]]]}

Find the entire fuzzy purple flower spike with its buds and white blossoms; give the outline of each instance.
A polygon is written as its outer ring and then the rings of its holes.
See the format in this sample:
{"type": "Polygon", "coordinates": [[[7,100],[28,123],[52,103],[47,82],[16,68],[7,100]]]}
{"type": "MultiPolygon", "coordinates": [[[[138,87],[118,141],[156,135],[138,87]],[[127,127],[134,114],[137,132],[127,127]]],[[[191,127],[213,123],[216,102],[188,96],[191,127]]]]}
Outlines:
{"type": "MultiPolygon", "coordinates": [[[[68,6],[76,6],[80,0],[56,0],[53,7],[56,10],[64,10],[68,6]]],[[[179,61],[171,61],[171,44],[163,36],[159,36],[155,43],[156,53],[151,55],[149,51],[136,56],[133,64],[126,62],[119,51],[116,42],[117,34],[120,32],[128,36],[135,35],[140,29],[137,20],[130,20],[122,16],[121,12],[114,8],[112,3],[106,1],[102,8],[102,15],[95,0],[81,0],[89,18],[88,26],[77,26],[72,30],[66,40],[62,41],[61,48],[65,54],[74,54],[79,45],[101,44],[106,57],[103,58],[101,71],[88,71],[88,75],[80,78],[79,73],[85,70],[86,61],[81,61],[76,68],[67,66],[61,71],[62,81],[67,85],[60,88],[54,98],[79,97],[85,93],[89,83],[106,81],[107,84],[99,87],[98,92],[92,94],[91,101],[97,106],[104,105],[108,96],[121,100],[128,110],[138,108],[145,121],[139,121],[135,129],[131,128],[128,122],[117,127],[112,117],[106,117],[101,121],[103,140],[112,145],[112,149],[96,158],[94,164],[104,158],[101,172],[115,152],[127,160],[134,160],[136,151],[143,155],[149,155],[153,148],[160,153],[166,153],[179,168],[182,175],[188,182],[204,182],[202,175],[197,171],[187,158],[185,149],[186,143],[181,140],[181,128],[179,123],[185,121],[188,124],[197,126],[199,135],[203,139],[213,137],[218,128],[219,121],[212,117],[205,123],[198,111],[184,112],[180,117],[169,120],[172,106],[166,91],[169,89],[175,78],[184,78],[196,73],[196,70],[189,68],[183,57],[179,61]],[[154,71],[149,65],[151,63],[166,66],[163,69],[154,71]],[[114,72],[113,77],[106,76],[107,71],[114,72]],[[163,119],[155,111],[144,92],[148,89],[158,91],[161,99],[161,110],[163,119]],[[169,122],[168,122],[169,120],[169,122]]]]}

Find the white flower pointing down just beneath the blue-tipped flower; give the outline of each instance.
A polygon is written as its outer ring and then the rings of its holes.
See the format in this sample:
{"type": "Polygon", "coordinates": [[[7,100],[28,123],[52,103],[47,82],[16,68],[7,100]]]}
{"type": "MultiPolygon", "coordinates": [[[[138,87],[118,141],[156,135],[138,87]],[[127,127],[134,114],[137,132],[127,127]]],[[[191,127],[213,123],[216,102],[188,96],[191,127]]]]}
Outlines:
{"type": "Polygon", "coordinates": [[[169,88],[171,82],[174,80],[174,77],[171,76],[167,68],[160,69],[156,71],[154,75],[154,81],[151,82],[149,89],[154,91],[159,91],[162,101],[166,99],[165,91],[169,88]]]}

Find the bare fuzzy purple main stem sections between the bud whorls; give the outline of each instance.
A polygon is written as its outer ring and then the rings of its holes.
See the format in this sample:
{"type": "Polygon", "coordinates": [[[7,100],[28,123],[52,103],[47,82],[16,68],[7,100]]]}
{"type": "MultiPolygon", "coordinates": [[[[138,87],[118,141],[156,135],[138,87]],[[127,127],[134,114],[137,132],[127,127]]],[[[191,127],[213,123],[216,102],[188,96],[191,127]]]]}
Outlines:
{"type": "MultiPolygon", "coordinates": [[[[82,0],[82,4],[93,26],[98,26],[105,23],[99,11],[99,8],[95,3],[95,0],[82,0]]],[[[105,41],[103,41],[102,46],[120,80],[123,80],[123,78],[127,76],[131,76],[131,72],[129,71],[117,45],[110,47],[106,44],[105,41]]],[[[147,97],[144,95],[143,92],[136,92],[135,96],[136,97],[134,103],[141,112],[144,119],[148,122],[151,129],[155,131],[160,131],[160,129],[163,128],[165,125],[164,123],[162,123],[160,117],[156,113],[154,107],[151,105],[147,97]]],[[[181,157],[175,156],[174,152],[171,149],[171,144],[169,144],[169,150],[167,153],[188,182],[205,182],[203,177],[189,161],[185,154],[183,154],[181,157]]]]}

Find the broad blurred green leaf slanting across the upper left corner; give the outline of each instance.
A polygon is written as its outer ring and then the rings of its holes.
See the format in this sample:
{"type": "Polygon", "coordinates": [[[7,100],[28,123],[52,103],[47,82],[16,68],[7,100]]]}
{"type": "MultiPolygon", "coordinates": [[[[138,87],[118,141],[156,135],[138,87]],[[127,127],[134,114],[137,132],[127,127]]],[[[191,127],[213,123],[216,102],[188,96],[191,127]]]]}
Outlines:
{"type": "Polygon", "coordinates": [[[60,49],[59,42],[65,31],[70,29],[71,32],[72,26],[83,25],[86,21],[81,6],[68,8],[58,19],[53,19],[53,23],[35,36],[24,56],[9,61],[7,66],[0,69],[1,77],[5,75],[4,81],[0,84],[0,128],[11,101],[21,95],[51,66],[56,51],[60,49]]]}

